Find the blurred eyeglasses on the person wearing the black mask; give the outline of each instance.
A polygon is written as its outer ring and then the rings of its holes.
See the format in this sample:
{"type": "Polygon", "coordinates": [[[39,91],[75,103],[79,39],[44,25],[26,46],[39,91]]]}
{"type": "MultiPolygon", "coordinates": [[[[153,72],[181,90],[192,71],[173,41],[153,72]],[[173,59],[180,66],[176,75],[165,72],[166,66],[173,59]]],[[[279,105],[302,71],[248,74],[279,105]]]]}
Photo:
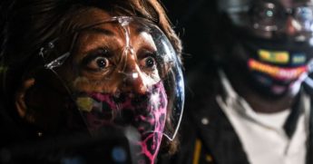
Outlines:
{"type": "Polygon", "coordinates": [[[249,25],[262,31],[275,32],[286,29],[291,16],[299,32],[313,32],[313,5],[285,8],[279,3],[255,2],[247,14],[249,25]]]}

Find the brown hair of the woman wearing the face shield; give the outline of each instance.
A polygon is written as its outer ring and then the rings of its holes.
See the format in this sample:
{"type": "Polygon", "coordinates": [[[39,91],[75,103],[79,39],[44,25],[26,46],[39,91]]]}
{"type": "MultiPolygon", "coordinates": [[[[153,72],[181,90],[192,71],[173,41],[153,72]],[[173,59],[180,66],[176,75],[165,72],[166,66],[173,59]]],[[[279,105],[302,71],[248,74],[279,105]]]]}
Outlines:
{"type": "MultiPolygon", "coordinates": [[[[6,101],[14,98],[25,70],[29,69],[26,67],[40,47],[73,30],[80,24],[73,17],[88,7],[101,8],[112,15],[136,15],[151,20],[167,35],[181,58],[181,41],[158,0],[12,0],[6,5],[0,67],[6,101]]],[[[166,151],[176,150],[177,141],[162,143],[166,151]]]]}

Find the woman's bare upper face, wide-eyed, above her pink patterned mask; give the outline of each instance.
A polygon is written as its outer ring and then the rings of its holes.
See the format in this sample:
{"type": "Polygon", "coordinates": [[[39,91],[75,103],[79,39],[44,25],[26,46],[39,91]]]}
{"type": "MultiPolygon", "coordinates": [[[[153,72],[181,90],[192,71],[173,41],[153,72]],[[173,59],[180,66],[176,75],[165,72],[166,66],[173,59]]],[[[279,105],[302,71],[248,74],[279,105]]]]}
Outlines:
{"type": "MultiPolygon", "coordinates": [[[[83,17],[99,22],[112,16],[94,9],[83,17]]],[[[75,92],[144,93],[161,81],[156,51],[152,35],[142,26],[95,25],[78,34],[64,78],[75,92]]]]}

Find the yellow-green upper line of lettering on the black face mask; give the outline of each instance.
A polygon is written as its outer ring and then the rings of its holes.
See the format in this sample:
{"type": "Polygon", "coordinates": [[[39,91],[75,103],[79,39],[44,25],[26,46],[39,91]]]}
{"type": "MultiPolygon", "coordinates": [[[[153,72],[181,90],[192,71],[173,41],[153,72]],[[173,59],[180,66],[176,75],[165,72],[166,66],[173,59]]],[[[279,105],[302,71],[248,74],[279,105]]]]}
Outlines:
{"type": "Polygon", "coordinates": [[[267,50],[259,50],[259,58],[269,63],[289,63],[288,52],[271,52],[267,50]]]}

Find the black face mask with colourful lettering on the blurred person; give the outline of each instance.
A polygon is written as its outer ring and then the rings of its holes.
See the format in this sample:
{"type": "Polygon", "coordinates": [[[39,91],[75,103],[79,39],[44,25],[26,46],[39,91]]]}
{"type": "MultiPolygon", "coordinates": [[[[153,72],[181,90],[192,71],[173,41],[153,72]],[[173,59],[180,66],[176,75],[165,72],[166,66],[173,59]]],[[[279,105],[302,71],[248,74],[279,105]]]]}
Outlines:
{"type": "Polygon", "coordinates": [[[269,97],[283,96],[307,75],[313,52],[308,42],[259,39],[248,35],[241,38],[243,51],[233,57],[238,57],[235,60],[244,64],[258,92],[269,97]]]}

